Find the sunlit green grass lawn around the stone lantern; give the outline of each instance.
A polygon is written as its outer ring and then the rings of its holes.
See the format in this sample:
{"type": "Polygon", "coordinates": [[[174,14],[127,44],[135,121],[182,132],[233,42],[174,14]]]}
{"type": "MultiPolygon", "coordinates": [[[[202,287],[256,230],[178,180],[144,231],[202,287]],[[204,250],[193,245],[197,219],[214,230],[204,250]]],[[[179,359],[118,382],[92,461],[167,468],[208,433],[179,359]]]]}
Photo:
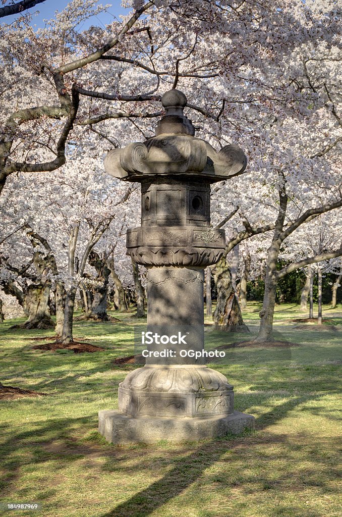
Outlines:
{"type": "MultiPolygon", "coordinates": [[[[257,303],[245,322],[257,331],[257,303]]],[[[235,386],[236,409],[256,431],[200,443],[113,446],[96,432],[99,409],[117,408],[118,383],[132,366],[132,315],[119,324],[75,323],[75,338],[105,352],[34,351],[49,331],[0,325],[4,384],[49,397],[0,402],[1,501],[40,502],[44,517],[333,517],[340,515],[338,394],[342,311],[332,327],[298,330],[298,307],[276,308],[277,339],[291,348],[234,348],[214,365],[235,386]]],[[[19,320],[15,321],[16,323],[19,320]]],[[[206,318],[206,323],[209,323],[206,318]]],[[[52,335],[53,332],[50,332],[52,335]]],[[[250,339],[206,327],[212,346],[250,339]]],[[[7,513],[6,513],[7,514],[7,513]]]]}

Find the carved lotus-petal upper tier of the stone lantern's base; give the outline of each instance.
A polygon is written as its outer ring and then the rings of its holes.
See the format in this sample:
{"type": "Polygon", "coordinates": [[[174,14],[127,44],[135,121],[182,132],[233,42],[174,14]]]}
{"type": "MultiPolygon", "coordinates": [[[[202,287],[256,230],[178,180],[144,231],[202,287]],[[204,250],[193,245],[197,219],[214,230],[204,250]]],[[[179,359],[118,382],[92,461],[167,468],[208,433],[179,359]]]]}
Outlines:
{"type": "Polygon", "coordinates": [[[234,391],[222,373],[204,365],[147,365],[119,384],[119,410],[136,417],[228,415],[234,391]]]}

